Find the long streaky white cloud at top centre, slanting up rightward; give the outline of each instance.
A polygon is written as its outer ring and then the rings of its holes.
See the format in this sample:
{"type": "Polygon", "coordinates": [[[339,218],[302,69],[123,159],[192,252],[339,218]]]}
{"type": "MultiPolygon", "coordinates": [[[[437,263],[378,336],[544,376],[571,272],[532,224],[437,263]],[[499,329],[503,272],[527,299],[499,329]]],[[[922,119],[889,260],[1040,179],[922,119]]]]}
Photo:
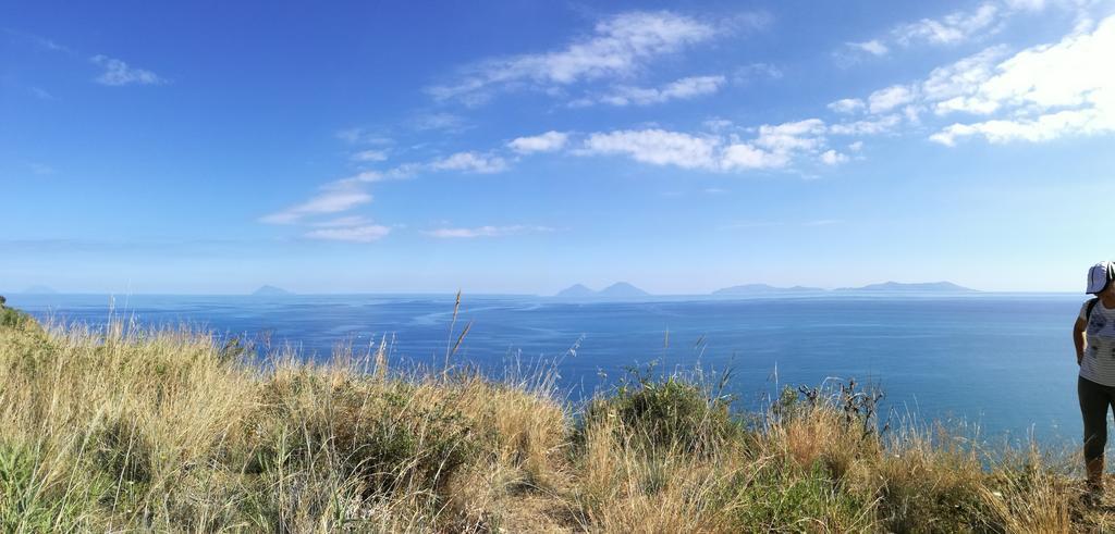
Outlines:
{"type": "Polygon", "coordinates": [[[492,90],[524,82],[553,87],[628,76],[657,57],[708,41],[716,33],[710,25],[669,11],[621,13],[561,50],[489,59],[466,68],[456,82],[429,87],[427,93],[476,104],[492,90]]]}

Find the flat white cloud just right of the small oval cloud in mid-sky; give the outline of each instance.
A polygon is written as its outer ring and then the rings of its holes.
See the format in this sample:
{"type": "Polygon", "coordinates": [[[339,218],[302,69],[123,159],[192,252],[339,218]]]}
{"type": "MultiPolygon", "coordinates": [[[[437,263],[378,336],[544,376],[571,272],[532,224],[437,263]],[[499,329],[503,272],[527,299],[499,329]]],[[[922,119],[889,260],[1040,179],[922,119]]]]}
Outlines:
{"type": "Polygon", "coordinates": [[[618,130],[591,134],[580,154],[624,154],[653,165],[712,168],[719,140],[663,129],[618,130]]]}

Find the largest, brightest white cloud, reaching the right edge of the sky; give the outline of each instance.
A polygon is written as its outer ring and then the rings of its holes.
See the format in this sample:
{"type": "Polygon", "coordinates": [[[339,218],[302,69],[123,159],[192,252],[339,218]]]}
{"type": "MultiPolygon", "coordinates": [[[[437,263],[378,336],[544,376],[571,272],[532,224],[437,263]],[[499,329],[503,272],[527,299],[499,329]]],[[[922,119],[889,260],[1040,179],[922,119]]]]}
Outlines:
{"type": "Polygon", "coordinates": [[[932,111],[935,117],[962,117],[930,136],[947,146],[966,137],[1038,143],[1109,134],[1115,132],[1111,50],[1115,50],[1115,16],[1098,23],[1085,21],[1058,42],[1014,55],[1004,46],[988,47],[934,68],[922,80],[876,90],[862,106],[854,98],[831,104],[835,111],[867,116],[833,125],[828,132],[855,136],[894,132],[903,116],[905,123],[919,125],[922,114],[932,111]]]}

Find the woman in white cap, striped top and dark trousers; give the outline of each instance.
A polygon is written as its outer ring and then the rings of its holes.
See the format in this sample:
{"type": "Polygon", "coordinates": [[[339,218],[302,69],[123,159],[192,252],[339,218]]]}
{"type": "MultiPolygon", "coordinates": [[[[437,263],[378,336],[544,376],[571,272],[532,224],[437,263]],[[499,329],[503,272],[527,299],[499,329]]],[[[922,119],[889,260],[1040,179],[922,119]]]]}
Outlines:
{"type": "Polygon", "coordinates": [[[1076,392],[1084,418],[1084,462],[1089,498],[1104,489],[1104,448],[1107,446],[1107,407],[1115,406],[1115,263],[1099,262],[1088,270],[1087,292],[1096,295],[1080,307],[1073,327],[1080,377],[1076,392]]]}

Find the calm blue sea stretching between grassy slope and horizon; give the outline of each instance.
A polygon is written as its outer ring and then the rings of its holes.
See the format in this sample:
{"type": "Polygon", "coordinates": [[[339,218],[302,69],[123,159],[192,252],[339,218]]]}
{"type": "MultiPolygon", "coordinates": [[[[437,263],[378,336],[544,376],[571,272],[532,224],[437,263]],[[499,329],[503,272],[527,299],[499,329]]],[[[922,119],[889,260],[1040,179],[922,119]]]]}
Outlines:
{"type": "MultiPolygon", "coordinates": [[[[456,361],[498,375],[514,361],[556,359],[561,386],[574,399],[614,383],[630,366],[730,367],[729,389],[745,406],[778,385],[855,377],[878,383],[896,415],[963,420],[985,438],[1032,433],[1072,444],[1080,421],[1069,332],[1083,301],[980,294],[578,304],[466,295],[457,331],[469,321],[472,328],[456,361]]],[[[396,361],[440,365],[454,300],[11,295],[9,304],[39,318],[95,324],[113,309],[149,326],[185,322],[289,342],[307,358],[327,358],[346,342],[366,350],[389,334],[396,361]]]]}

